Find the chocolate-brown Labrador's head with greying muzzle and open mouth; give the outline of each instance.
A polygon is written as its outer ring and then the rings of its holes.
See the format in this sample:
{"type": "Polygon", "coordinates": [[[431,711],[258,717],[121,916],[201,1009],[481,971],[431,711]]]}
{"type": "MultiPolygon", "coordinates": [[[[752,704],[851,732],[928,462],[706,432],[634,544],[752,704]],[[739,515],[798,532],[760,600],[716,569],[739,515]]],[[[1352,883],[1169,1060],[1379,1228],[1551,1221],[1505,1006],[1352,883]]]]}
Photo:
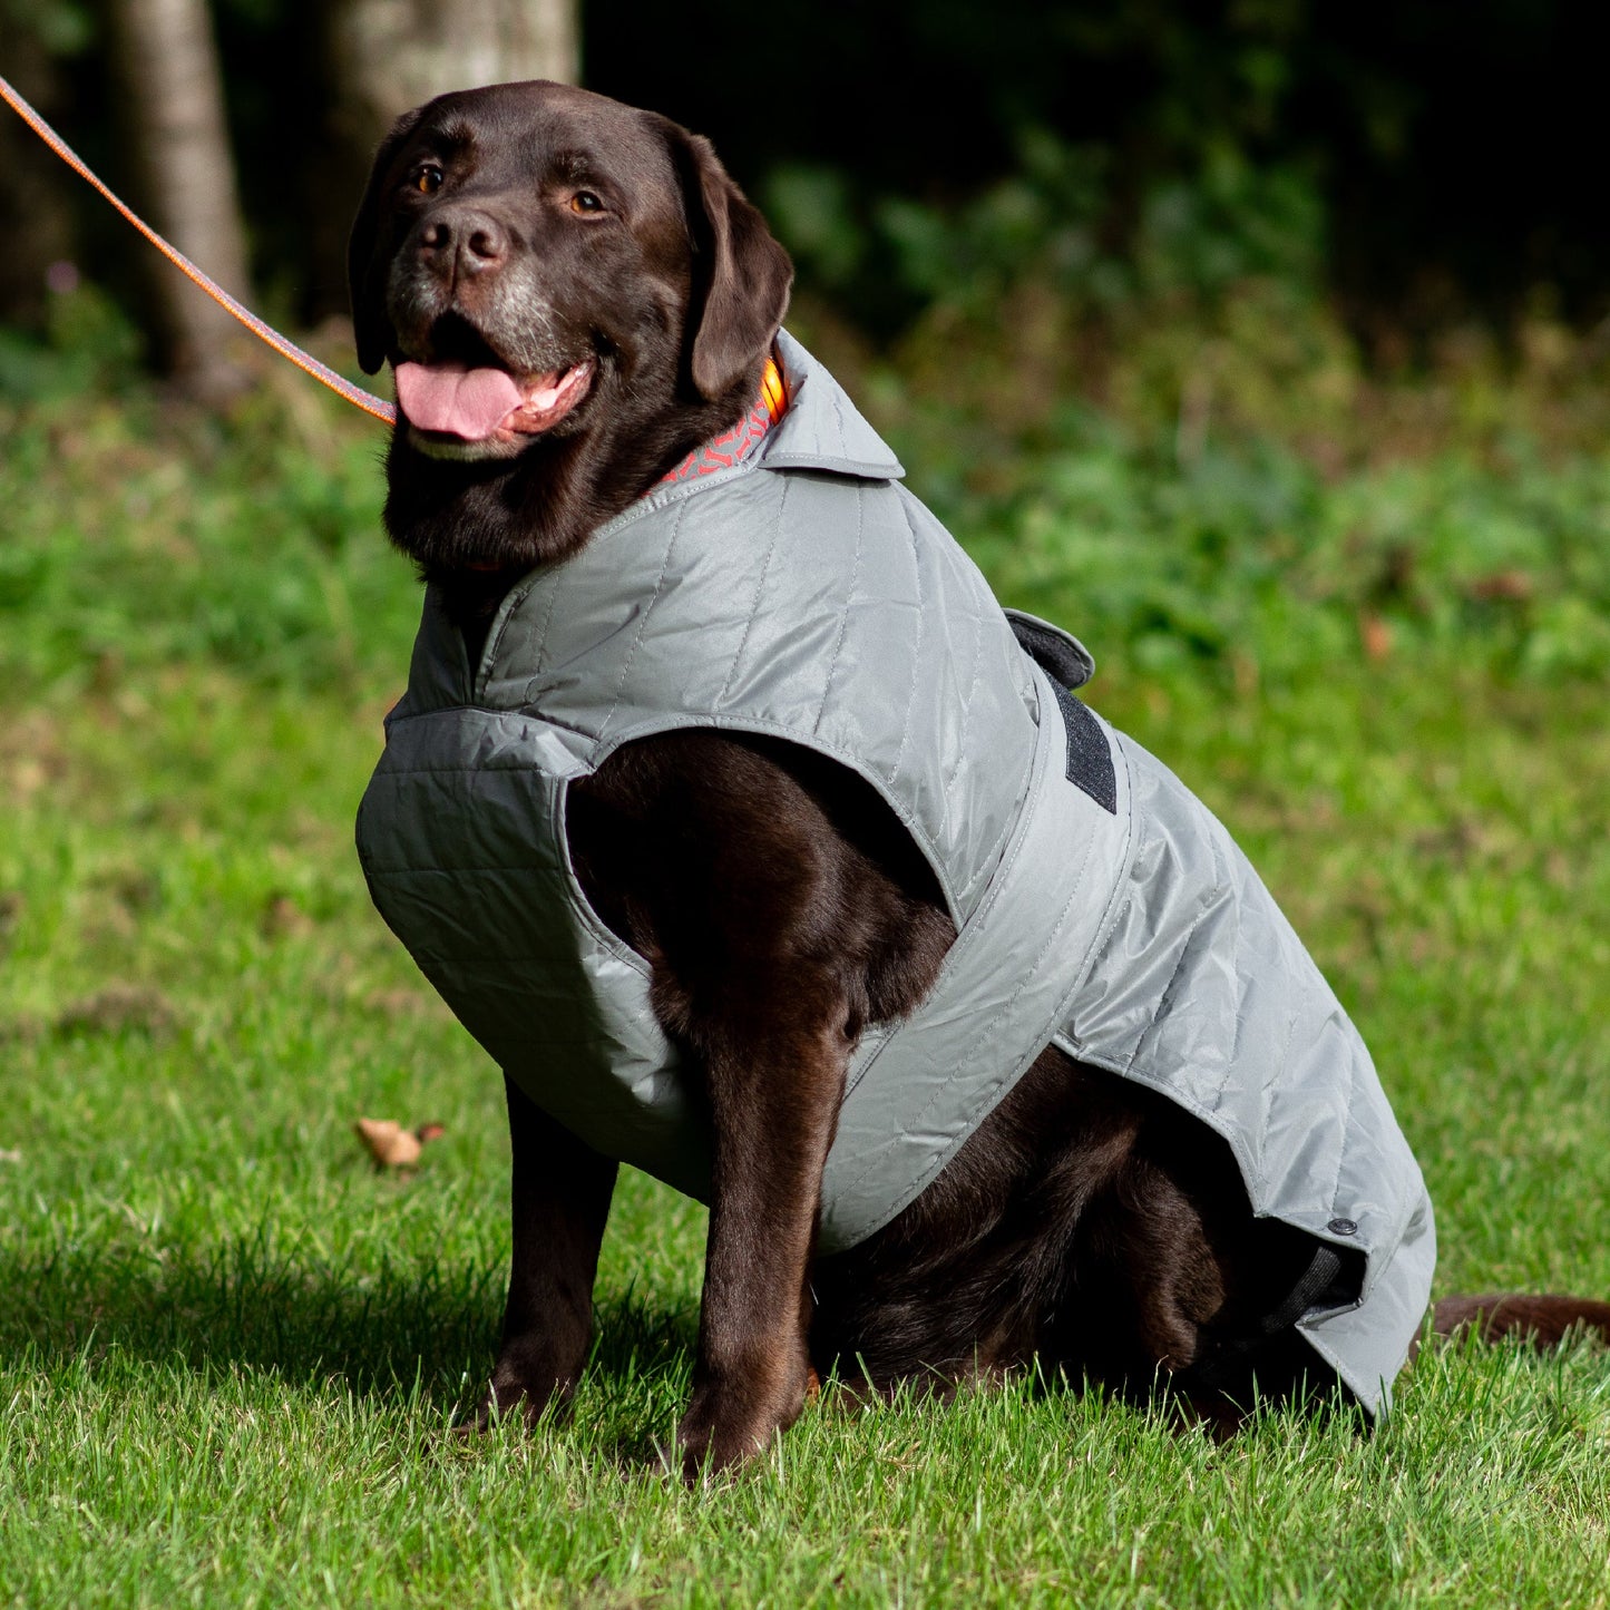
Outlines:
{"type": "Polygon", "coordinates": [[[734,423],[791,280],[708,142],[544,82],[404,116],[348,272],[396,370],[386,523],[433,573],[562,557],[734,423]]]}

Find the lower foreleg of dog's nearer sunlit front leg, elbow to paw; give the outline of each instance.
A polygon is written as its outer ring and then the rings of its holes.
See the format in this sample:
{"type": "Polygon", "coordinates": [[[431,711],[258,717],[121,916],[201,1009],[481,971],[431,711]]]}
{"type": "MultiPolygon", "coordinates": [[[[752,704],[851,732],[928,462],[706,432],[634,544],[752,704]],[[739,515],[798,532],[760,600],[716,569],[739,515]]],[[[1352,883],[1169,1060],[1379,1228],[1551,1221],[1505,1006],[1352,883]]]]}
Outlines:
{"type": "MultiPolygon", "coordinates": [[[[797,1006],[792,982],[778,980],[774,1001],[797,1006]]],[[[694,1394],[678,1431],[689,1481],[760,1452],[811,1380],[808,1269],[847,1045],[784,1016],[723,1022],[704,1046],[715,1156],[694,1394]]]]}

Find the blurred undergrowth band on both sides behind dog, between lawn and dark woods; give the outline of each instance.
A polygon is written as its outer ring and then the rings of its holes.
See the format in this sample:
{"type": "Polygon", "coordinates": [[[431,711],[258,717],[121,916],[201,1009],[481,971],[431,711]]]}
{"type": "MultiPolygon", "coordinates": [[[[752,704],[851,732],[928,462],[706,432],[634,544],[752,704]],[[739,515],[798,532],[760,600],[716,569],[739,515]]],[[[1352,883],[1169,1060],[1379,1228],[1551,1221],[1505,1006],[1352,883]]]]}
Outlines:
{"type": "MultiPolygon", "coordinates": [[[[799,330],[1005,601],[1108,663],[1230,689],[1360,655],[1610,676],[1605,388],[1558,330],[1533,332],[1521,375],[1478,343],[1386,385],[1290,282],[1211,306],[1132,283],[1103,346],[1038,267],[977,275],[987,293],[937,304],[892,359],[821,303],[799,330]]],[[[272,357],[227,415],[137,359],[89,287],[55,299],[48,340],[0,341],[0,671],[399,678],[417,588],[382,535],[377,427],[272,357]]]]}

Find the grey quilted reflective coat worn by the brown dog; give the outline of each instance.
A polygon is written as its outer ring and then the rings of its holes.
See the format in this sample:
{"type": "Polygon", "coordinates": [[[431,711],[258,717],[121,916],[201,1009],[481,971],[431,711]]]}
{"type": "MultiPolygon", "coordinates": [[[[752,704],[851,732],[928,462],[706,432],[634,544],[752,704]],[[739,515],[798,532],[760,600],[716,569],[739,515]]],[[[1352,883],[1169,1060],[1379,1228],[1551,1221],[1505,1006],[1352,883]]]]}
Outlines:
{"type": "MultiPolygon", "coordinates": [[[[1301,1328],[1377,1407],[1423,1315],[1435,1233],[1357,1032],[1164,766],[1100,723],[1116,808],[1069,781],[1056,689],[984,578],[832,378],[779,346],[791,409],[755,452],[655,489],[526,576],[473,673],[427,596],[359,811],[377,906],[538,1104],[704,1198],[705,1127],[647,963],[576,882],[565,791],[620,744],[687,726],[837,760],[910,831],[958,939],[923,1005],[853,1055],[823,1249],[911,1203],[1055,1040],[1224,1135],[1254,1212],[1362,1251],[1360,1302],[1301,1328]]],[[[1042,663],[1088,675],[1077,642],[1034,633],[1042,663]]]]}

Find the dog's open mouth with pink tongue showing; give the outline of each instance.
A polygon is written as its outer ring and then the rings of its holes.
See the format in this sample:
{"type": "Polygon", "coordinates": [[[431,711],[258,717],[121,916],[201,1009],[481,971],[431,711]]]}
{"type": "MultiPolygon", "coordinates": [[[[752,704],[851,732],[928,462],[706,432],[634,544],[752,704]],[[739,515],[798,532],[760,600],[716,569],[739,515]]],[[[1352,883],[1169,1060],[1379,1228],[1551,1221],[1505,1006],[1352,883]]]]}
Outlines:
{"type": "MultiPolygon", "coordinates": [[[[433,332],[436,335],[438,332],[433,332]]],[[[551,431],[592,388],[596,361],[518,374],[483,341],[431,340],[428,357],[393,362],[414,444],[435,457],[510,457],[551,431]]]]}

